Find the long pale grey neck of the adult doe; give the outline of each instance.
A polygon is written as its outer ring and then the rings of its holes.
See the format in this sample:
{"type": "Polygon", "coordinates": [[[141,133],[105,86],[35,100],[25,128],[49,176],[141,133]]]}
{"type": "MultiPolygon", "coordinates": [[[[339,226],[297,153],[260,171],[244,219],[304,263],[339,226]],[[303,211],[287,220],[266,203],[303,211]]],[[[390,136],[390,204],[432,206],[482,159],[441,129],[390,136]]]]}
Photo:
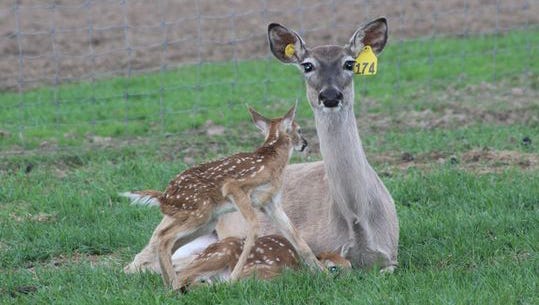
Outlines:
{"type": "Polygon", "coordinates": [[[335,208],[360,218],[368,204],[369,164],[357,130],[353,96],[346,105],[337,112],[315,111],[316,130],[335,208]]]}

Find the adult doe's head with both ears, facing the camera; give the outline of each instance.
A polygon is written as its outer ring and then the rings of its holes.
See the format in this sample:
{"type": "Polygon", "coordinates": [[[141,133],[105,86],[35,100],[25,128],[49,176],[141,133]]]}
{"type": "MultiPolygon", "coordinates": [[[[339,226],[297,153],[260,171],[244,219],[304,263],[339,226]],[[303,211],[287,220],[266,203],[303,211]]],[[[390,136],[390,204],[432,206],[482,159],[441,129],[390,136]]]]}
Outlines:
{"type": "Polygon", "coordinates": [[[297,65],[304,73],[313,111],[333,112],[352,108],[355,58],[367,45],[375,54],[382,52],[387,42],[387,21],[382,17],[361,26],[345,46],[308,48],[296,32],[277,23],[268,26],[268,38],[277,59],[297,65]]]}

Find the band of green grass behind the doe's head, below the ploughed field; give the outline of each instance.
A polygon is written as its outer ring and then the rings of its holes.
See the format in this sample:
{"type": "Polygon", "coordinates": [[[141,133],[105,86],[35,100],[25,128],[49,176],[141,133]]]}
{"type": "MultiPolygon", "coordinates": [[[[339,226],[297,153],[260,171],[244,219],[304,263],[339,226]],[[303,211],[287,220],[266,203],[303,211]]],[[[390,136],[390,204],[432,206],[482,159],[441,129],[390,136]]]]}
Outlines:
{"type": "MultiPolygon", "coordinates": [[[[539,30],[468,39],[428,38],[389,43],[375,77],[358,77],[363,97],[395,112],[425,105],[433,92],[539,72],[539,30]],[[496,53],[493,52],[496,50],[496,53]],[[428,94],[417,96],[418,90],[428,94]]],[[[133,137],[181,133],[207,120],[233,126],[245,104],[284,111],[305,100],[301,76],[276,60],[206,63],[164,73],[44,87],[0,96],[0,147],[36,148],[43,141],[77,146],[84,135],[133,137]],[[69,134],[69,136],[66,136],[69,134]]],[[[531,84],[539,86],[537,81],[531,84]]],[[[305,105],[304,102],[301,105],[305,105]]],[[[269,110],[271,109],[271,110],[269,110]]],[[[310,115],[301,107],[301,115],[310,115]]]]}

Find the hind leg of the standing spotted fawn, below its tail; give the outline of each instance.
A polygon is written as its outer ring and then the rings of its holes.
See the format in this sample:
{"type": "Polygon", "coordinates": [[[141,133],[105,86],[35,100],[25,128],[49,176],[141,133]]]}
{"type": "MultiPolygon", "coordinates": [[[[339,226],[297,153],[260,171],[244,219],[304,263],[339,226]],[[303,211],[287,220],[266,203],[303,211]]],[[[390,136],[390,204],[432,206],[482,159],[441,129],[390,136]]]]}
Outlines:
{"type": "Polygon", "coordinates": [[[161,228],[158,233],[159,245],[159,265],[161,267],[161,276],[166,286],[171,286],[176,290],[180,288],[178,278],[172,264],[172,249],[175,244],[184,245],[195,238],[211,232],[215,228],[215,222],[207,222],[193,217],[173,218],[168,226],[161,228]],[[178,241],[178,243],[176,243],[178,241]]]}

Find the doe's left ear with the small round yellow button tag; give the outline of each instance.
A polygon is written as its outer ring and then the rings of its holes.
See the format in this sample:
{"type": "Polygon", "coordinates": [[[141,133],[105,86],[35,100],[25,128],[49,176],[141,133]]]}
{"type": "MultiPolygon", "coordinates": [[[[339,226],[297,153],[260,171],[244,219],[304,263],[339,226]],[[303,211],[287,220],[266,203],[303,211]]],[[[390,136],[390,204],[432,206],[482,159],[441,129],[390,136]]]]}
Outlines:
{"type": "Polygon", "coordinates": [[[296,32],[278,23],[268,26],[268,39],[271,52],[284,63],[299,64],[307,54],[303,39],[296,32]]]}

